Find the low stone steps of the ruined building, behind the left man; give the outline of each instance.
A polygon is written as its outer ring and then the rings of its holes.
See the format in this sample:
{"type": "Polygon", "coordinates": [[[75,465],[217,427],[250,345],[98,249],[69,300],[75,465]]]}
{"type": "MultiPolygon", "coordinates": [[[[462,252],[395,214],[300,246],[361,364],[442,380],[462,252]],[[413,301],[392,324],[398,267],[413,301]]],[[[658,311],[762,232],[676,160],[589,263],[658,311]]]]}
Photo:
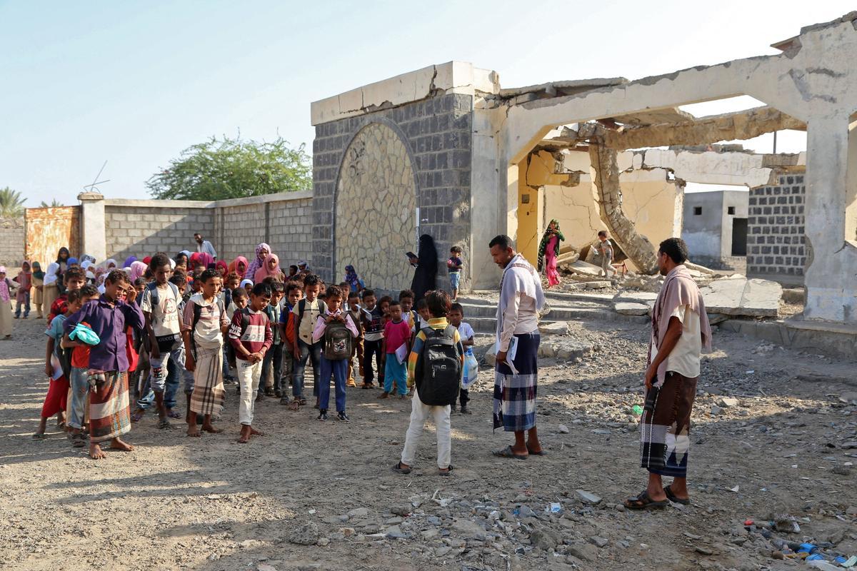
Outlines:
{"type": "MultiPolygon", "coordinates": [[[[546,293],[550,312],[542,318],[542,324],[558,321],[622,321],[626,323],[648,323],[645,316],[620,315],[613,310],[612,294],[546,293]]],[[[464,321],[476,333],[493,333],[497,328],[497,293],[475,292],[474,295],[458,296],[464,307],[464,321]]]]}

